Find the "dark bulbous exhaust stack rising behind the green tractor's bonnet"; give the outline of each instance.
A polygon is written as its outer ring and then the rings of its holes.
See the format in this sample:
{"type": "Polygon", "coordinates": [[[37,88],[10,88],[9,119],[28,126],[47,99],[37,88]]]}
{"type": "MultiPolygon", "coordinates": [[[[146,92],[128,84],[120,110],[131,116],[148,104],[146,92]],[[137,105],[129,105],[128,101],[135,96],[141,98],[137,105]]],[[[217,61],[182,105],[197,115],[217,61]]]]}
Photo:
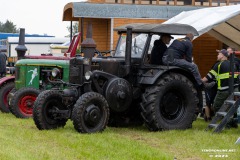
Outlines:
{"type": "Polygon", "coordinates": [[[17,51],[18,60],[23,59],[27,51],[27,47],[25,46],[25,29],[24,28],[20,28],[18,46],[15,48],[15,50],[17,51]]]}

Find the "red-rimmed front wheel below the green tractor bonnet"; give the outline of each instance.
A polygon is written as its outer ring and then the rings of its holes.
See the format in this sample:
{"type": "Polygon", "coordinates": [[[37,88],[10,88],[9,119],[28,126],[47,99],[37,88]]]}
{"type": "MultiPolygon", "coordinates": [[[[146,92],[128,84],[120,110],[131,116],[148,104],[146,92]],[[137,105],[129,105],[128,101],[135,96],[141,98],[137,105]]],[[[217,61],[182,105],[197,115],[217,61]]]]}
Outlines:
{"type": "Polygon", "coordinates": [[[33,104],[40,91],[35,88],[20,88],[14,93],[10,110],[17,118],[32,117],[33,104]]]}

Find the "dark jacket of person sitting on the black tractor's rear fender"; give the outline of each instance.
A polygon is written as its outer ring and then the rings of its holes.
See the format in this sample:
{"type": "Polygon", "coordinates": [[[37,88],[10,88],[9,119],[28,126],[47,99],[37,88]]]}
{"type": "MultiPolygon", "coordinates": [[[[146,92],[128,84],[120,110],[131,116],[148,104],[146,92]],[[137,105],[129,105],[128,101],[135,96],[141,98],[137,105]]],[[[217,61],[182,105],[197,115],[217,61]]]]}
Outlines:
{"type": "Polygon", "coordinates": [[[164,56],[171,53],[175,59],[185,59],[192,63],[192,48],[192,42],[188,37],[179,38],[173,41],[167,52],[164,53],[164,56]]]}

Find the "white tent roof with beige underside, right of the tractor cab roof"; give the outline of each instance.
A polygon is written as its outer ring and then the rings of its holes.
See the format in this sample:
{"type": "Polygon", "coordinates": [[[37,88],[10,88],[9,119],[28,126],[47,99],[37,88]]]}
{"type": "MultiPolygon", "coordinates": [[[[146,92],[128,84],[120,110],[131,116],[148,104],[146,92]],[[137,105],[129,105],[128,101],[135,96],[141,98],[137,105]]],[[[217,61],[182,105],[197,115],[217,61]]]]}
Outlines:
{"type": "Polygon", "coordinates": [[[184,11],[164,23],[189,24],[199,36],[208,32],[226,45],[240,49],[240,5],[184,11]]]}

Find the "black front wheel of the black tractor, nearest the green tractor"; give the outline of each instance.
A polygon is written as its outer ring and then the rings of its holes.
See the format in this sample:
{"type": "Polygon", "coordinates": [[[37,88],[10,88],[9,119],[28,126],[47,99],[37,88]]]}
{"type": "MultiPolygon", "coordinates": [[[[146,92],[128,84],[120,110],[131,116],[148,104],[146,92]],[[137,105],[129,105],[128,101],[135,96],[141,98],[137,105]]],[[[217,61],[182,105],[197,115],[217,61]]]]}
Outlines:
{"type": "Polygon", "coordinates": [[[66,110],[59,91],[46,90],[39,94],[33,106],[33,120],[39,130],[64,127],[68,119],[55,118],[57,110],[66,110]]]}

